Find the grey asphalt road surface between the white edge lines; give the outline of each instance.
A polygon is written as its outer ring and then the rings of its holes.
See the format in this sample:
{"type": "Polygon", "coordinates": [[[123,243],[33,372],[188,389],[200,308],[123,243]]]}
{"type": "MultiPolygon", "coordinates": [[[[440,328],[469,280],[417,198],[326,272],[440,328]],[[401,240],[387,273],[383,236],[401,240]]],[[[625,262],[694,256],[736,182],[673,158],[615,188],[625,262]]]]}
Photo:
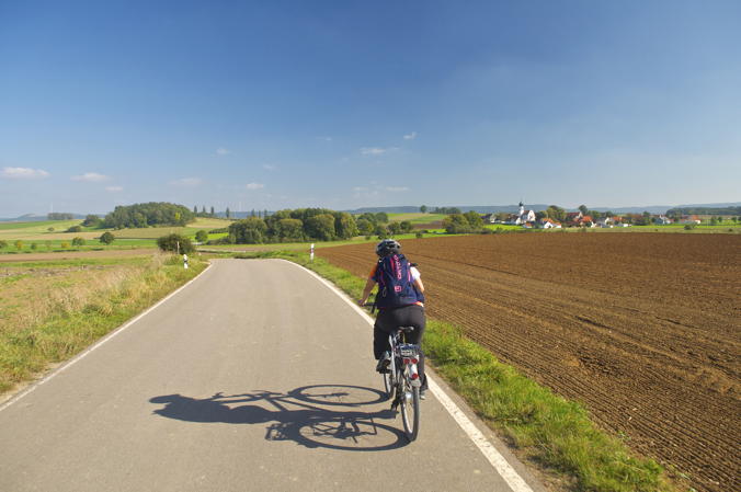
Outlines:
{"type": "Polygon", "coordinates": [[[0,405],[0,491],[510,491],[434,396],[407,442],[371,341],[303,268],[215,261],[0,405]]]}

